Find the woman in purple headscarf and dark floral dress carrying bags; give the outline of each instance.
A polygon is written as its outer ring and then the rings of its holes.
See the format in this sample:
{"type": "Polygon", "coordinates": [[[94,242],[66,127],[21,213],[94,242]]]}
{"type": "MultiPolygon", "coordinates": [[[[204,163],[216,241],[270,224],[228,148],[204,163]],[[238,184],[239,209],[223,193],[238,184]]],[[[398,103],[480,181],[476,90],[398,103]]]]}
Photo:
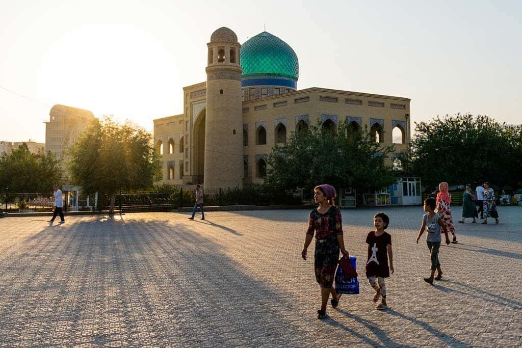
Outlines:
{"type": "Polygon", "coordinates": [[[315,280],[321,286],[321,309],[317,310],[317,319],[326,318],[326,305],[330,294],[331,306],[336,308],[339,305],[341,295],[336,294],[333,287],[339,250],[342,255],[350,257],[342,237],[342,217],[341,211],[335,206],[336,196],[335,188],[331,185],[319,185],[314,188],[314,201],[319,204],[319,207],[310,213],[304,247],[301,251],[302,258],[306,260],[306,250],[312,242],[315,231],[315,280]]]}

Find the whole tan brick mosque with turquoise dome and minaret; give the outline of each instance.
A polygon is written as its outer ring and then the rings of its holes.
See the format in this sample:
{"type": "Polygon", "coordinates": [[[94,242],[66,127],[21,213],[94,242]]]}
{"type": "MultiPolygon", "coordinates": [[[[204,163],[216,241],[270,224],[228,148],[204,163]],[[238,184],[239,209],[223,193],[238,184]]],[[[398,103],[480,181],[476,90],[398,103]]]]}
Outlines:
{"type": "Polygon", "coordinates": [[[206,189],[262,183],[271,148],[310,125],[367,126],[375,141],[407,149],[410,99],[327,88],[299,90],[292,47],[266,31],[243,44],[229,28],[212,33],[207,80],[183,88],[183,113],[154,119],[163,183],[206,189]]]}

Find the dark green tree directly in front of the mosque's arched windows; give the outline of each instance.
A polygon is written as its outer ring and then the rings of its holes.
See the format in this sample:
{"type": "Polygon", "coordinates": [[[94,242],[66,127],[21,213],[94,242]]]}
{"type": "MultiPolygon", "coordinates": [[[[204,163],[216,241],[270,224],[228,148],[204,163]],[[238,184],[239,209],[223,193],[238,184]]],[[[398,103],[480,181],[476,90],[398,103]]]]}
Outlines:
{"type": "Polygon", "coordinates": [[[367,128],[350,131],[317,126],[293,132],[287,143],[272,148],[265,183],[280,189],[312,188],[328,183],[334,187],[382,189],[396,181],[386,163],[393,146],[372,140],[367,128]]]}

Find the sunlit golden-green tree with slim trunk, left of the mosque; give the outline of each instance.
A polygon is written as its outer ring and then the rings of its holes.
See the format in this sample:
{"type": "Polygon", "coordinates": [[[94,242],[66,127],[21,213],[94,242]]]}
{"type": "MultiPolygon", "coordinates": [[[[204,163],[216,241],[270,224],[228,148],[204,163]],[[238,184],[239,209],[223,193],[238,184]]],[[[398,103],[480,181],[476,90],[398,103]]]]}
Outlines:
{"type": "Polygon", "coordinates": [[[82,192],[111,197],[110,212],[120,190],[152,187],[161,179],[161,162],[145,129],[109,117],[95,119],[67,151],[68,172],[82,192]]]}

